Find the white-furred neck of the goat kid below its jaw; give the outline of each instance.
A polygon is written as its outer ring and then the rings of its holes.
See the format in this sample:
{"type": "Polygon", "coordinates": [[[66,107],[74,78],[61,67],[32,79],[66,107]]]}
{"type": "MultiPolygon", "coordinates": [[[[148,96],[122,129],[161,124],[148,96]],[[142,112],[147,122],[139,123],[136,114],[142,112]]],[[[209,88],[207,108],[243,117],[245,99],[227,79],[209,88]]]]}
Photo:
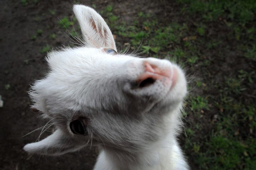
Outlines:
{"type": "Polygon", "coordinates": [[[148,145],[141,154],[102,149],[94,170],[186,170],[187,163],[174,136],[148,145]]]}

